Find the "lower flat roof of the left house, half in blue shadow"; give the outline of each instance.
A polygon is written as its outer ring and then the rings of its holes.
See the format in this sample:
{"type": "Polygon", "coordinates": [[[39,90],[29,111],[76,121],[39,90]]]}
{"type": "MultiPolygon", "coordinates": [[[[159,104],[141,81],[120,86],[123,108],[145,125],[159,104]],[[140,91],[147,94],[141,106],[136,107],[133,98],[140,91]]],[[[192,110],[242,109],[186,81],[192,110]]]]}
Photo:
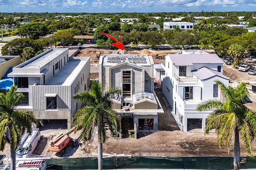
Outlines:
{"type": "MultiPolygon", "coordinates": [[[[85,58],[85,57],[83,57],[85,58]]],[[[81,72],[82,68],[85,66],[87,60],[70,60],[62,69],[60,69],[57,74],[55,74],[46,84],[44,85],[56,85],[56,86],[70,86],[72,82],[76,79],[77,75],[81,72]]],[[[87,74],[87,73],[86,73],[87,74]]]]}

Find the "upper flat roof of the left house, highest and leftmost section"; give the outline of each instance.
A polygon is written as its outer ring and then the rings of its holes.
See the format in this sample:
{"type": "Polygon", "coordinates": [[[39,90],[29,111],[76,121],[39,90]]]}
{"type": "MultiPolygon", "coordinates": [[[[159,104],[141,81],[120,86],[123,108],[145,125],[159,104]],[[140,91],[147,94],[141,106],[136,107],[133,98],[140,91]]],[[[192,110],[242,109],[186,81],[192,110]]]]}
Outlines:
{"type": "Polygon", "coordinates": [[[58,57],[61,53],[66,51],[66,48],[52,48],[32,59],[16,66],[17,68],[40,68],[44,66],[44,64],[49,63],[52,59],[58,57]]]}

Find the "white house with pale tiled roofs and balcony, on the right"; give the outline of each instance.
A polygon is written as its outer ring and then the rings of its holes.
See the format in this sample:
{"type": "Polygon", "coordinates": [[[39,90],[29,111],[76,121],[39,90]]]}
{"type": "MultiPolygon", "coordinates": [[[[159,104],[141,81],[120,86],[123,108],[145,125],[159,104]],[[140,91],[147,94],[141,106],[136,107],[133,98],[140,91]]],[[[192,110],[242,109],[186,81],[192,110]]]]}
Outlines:
{"type": "Polygon", "coordinates": [[[222,99],[214,80],[228,86],[223,75],[223,61],[216,54],[169,54],[165,59],[162,91],[172,107],[172,114],[184,132],[202,129],[212,111],[197,111],[196,106],[212,98],[222,99]]]}

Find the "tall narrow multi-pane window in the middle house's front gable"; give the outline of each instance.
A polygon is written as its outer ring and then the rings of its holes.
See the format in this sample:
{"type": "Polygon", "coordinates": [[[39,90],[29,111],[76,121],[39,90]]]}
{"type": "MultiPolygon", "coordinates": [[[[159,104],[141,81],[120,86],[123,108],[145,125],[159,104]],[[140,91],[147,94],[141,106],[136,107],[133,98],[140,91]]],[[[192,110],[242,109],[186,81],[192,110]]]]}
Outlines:
{"type": "Polygon", "coordinates": [[[122,73],[122,91],[124,97],[131,96],[131,71],[123,71],[122,73]]]}

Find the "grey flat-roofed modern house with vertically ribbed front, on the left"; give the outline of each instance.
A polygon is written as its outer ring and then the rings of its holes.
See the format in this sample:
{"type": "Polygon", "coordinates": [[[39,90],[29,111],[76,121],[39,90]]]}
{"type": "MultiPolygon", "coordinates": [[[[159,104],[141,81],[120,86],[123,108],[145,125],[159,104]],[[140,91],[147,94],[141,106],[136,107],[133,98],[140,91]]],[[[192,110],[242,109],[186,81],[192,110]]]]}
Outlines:
{"type": "Polygon", "coordinates": [[[15,66],[8,77],[25,98],[17,109],[33,111],[36,119],[66,119],[70,129],[72,117],[81,103],[71,100],[90,83],[90,57],[69,57],[68,49],[54,48],[15,66]]]}

